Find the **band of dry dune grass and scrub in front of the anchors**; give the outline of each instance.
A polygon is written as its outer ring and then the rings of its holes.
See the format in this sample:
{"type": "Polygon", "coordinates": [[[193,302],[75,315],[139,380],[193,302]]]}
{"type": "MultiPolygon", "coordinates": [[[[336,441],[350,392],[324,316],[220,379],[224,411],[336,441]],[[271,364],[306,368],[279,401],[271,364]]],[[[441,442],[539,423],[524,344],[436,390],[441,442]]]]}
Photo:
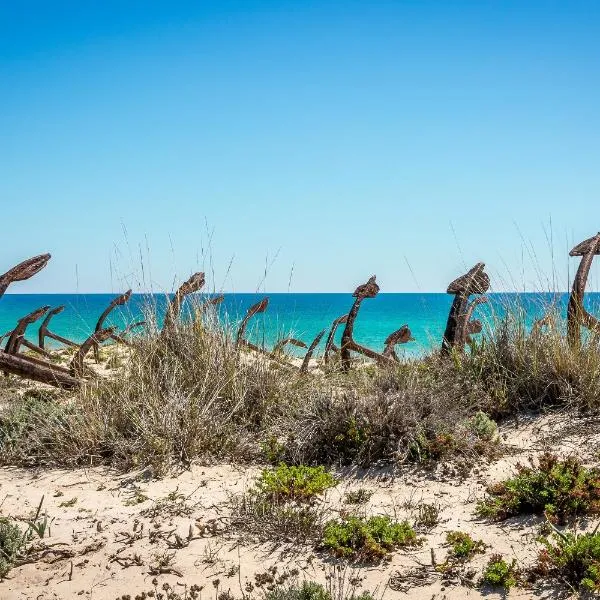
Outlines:
{"type": "MultiPolygon", "coordinates": [[[[494,421],[600,407],[595,339],[571,349],[560,324],[530,333],[510,315],[464,355],[310,374],[236,348],[215,319],[150,328],[106,378],[49,400],[13,395],[0,461],[150,465],[191,461],[375,465],[490,455],[494,421]]],[[[4,397],[6,394],[4,392],[4,397]]]]}

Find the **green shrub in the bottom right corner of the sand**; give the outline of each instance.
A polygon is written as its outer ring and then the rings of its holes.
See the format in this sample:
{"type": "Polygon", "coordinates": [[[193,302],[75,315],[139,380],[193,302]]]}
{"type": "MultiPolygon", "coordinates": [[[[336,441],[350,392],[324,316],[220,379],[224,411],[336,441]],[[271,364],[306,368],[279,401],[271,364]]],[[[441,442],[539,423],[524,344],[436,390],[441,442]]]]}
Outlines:
{"type": "Polygon", "coordinates": [[[555,532],[542,539],[537,574],[550,575],[588,592],[600,592],[600,533],[555,532]]]}

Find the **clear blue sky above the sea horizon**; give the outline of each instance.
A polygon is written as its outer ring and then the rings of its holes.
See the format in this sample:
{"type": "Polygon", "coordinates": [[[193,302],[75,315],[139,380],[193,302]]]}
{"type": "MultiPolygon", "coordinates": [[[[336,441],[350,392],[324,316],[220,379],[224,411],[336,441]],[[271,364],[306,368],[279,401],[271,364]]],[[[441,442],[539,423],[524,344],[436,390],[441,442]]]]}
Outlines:
{"type": "Polygon", "coordinates": [[[598,2],[0,0],[0,270],[443,291],[483,260],[566,289],[600,229],[599,31],[598,2]]]}

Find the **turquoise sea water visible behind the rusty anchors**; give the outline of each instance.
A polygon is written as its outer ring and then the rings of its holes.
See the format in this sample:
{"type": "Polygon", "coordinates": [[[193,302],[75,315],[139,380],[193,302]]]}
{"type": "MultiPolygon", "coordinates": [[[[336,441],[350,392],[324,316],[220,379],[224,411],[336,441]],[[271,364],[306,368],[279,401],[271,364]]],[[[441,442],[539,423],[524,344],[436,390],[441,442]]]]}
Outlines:
{"type": "MultiPolygon", "coordinates": [[[[51,330],[59,335],[83,341],[93,330],[96,320],[109,304],[113,294],[5,294],[0,299],[0,335],[12,329],[16,321],[32,310],[49,305],[65,305],[65,310],[51,322],[51,330]]],[[[236,322],[246,309],[264,297],[263,294],[229,294],[219,306],[220,318],[236,322]]],[[[567,294],[489,294],[490,303],[477,309],[476,316],[486,322],[492,314],[502,315],[506,307],[519,307],[528,324],[556,305],[565,314],[567,294]]],[[[199,298],[200,300],[202,297],[199,298]]],[[[294,335],[307,344],[321,330],[328,328],[352,305],[351,294],[269,294],[266,313],[255,316],[248,337],[271,347],[275,340],[294,335]]],[[[144,318],[144,310],[153,307],[159,321],[165,312],[164,295],[133,295],[129,303],[117,307],[106,323],[119,328],[144,318]]],[[[379,294],[363,302],[355,326],[355,339],[373,349],[382,349],[389,333],[405,323],[410,327],[414,342],[402,346],[410,354],[419,354],[440,344],[452,296],[448,294],[379,294]]],[[[600,313],[600,293],[586,295],[586,303],[594,314],[600,313]]],[[[187,302],[184,315],[190,313],[187,302]]],[[[38,323],[31,325],[27,338],[37,342],[38,323]]],[[[338,340],[341,328],[338,332],[338,340]]],[[[49,346],[52,340],[47,340],[49,346]]],[[[400,349],[400,348],[399,348],[400,349]]]]}

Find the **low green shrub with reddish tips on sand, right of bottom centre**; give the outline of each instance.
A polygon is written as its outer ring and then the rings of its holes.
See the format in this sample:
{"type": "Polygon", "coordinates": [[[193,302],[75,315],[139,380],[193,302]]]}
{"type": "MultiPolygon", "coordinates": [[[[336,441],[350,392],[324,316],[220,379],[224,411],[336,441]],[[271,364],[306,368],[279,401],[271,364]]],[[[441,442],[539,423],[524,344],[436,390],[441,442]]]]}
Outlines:
{"type": "Polygon", "coordinates": [[[386,516],[351,516],[325,524],[322,546],[342,558],[378,561],[398,547],[419,543],[407,521],[398,523],[386,516]]]}

